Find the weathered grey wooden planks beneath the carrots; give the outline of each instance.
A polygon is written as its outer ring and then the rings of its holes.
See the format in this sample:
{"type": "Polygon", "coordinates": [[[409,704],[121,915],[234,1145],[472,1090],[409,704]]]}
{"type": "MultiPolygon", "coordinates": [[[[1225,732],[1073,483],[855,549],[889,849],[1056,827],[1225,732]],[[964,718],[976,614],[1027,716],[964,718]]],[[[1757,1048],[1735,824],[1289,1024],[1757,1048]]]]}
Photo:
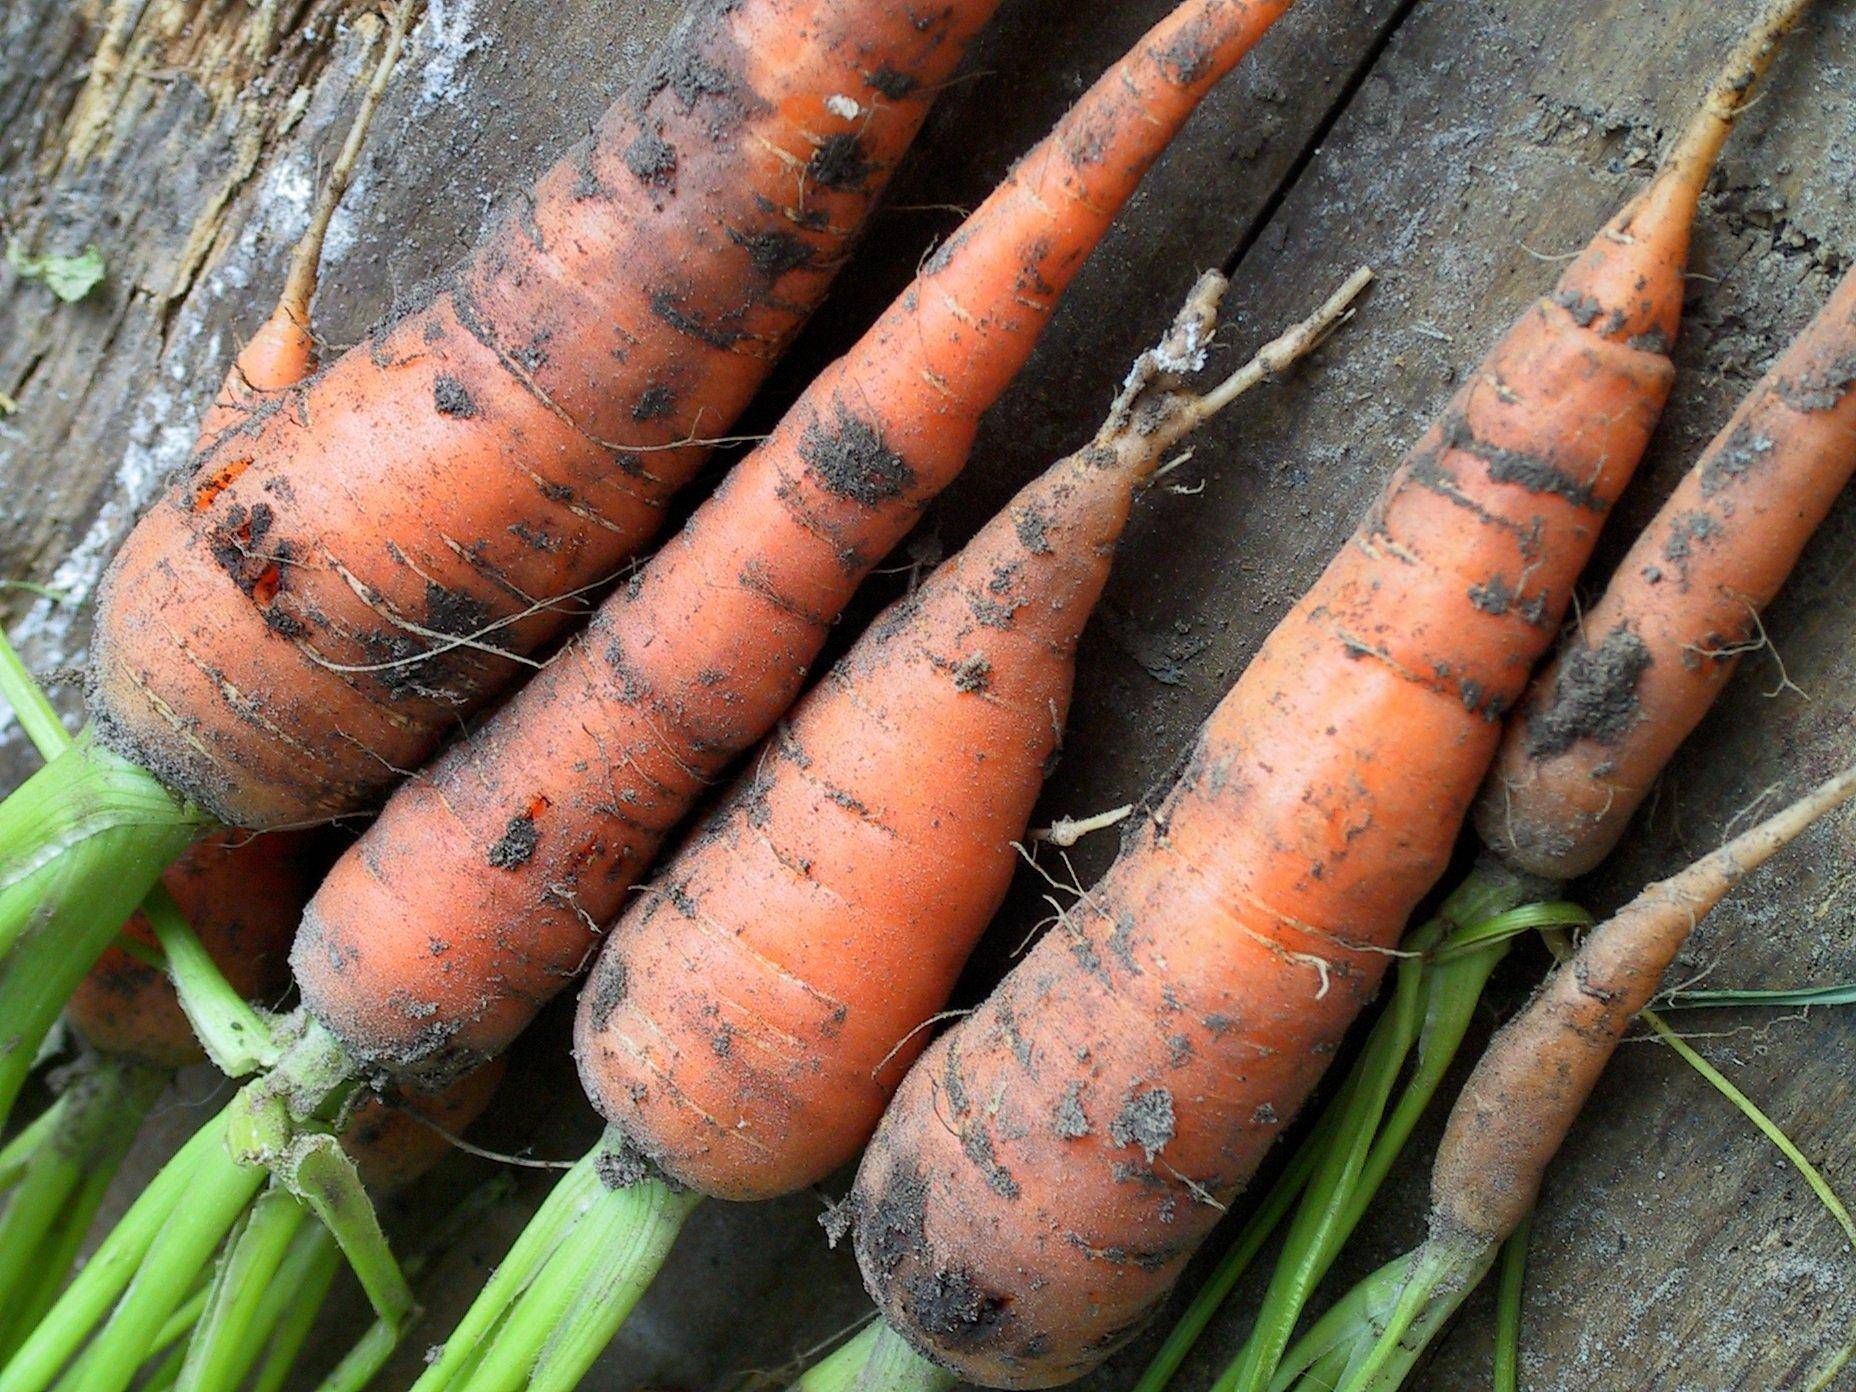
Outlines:
{"type": "MultiPolygon", "coordinates": [[[[1162,9],[1164,0],[1006,0],[843,291],[757,408],[763,419],[900,288],[956,223],[950,206],[971,206],[1162,9]]],[[[1234,349],[1299,317],[1359,262],[1383,280],[1312,366],[1205,434],[1177,475],[1203,481],[1203,492],[1143,503],[1084,648],[1049,815],[1127,802],[1166,772],[1457,377],[1641,184],[1661,134],[1687,115],[1752,9],[1754,0],[1303,0],[1208,104],[1076,284],[913,555],[956,546],[1084,438],[1199,269],[1234,267],[1234,349]]],[[[605,104],[672,11],[674,0],[429,0],[330,238],[321,330],[356,338],[395,293],[444,265],[496,199],[605,104]]],[[[1819,11],[1730,145],[1704,208],[1682,380],[1617,514],[1609,557],[1856,252],[1856,7],[1823,0],[1819,11]]],[[[182,458],[193,412],[273,293],[314,169],[371,54],[377,32],[358,13],[342,0],[9,0],[0,11],[0,215],[33,251],[95,241],[110,262],[110,280],[69,308],[0,269],[0,392],[19,401],[0,419],[0,575],[67,594],[65,603],[0,594],[0,612],[41,670],[82,659],[100,561],[182,458]]],[[[1581,885],[1589,902],[1615,904],[1711,846],[1771,785],[1797,787],[1856,755],[1852,575],[1856,505],[1845,503],[1767,618],[1772,651],[1746,661],[1630,844],[1581,885]],[[1782,690],[1780,672],[1791,683],[1782,690]]],[[[904,583],[882,577],[869,603],[904,583]]],[[[74,709],[76,692],[67,687],[61,700],[74,709]]],[[[7,780],[26,767],[19,746],[7,731],[7,780]]],[[[1849,818],[1813,833],[1715,915],[1687,954],[1691,973],[1734,986],[1856,976],[1852,846],[1849,818]]],[[[1112,852],[1112,835],[1084,843],[1076,874],[1088,882],[1112,852]]],[[[984,989],[1043,917],[1041,891],[1023,876],[969,991],[984,989]]],[[[1511,1002],[1539,969],[1539,956],[1518,954],[1498,997],[1511,1002]]],[[[1682,1023],[1856,1193],[1856,1017],[1682,1023]]],[[[488,1143],[533,1143],[538,1154],[585,1145],[592,1123],[561,1058],[557,1012],[523,1050],[522,1086],[488,1123],[488,1143]]],[[[200,1086],[189,1097],[199,1101],[200,1086]]],[[[165,1127],[178,1130],[187,1114],[176,1104],[165,1127]]],[[[431,1221],[486,1169],[455,1167],[403,1219],[431,1221]]],[[[1388,1192],[1355,1270],[1416,1236],[1422,1179],[1422,1166],[1409,1166],[1388,1192]]],[[[481,1225],[449,1264],[447,1288],[473,1279],[471,1264],[496,1253],[535,1193],[527,1184],[481,1225]]],[[[856,1318],[852,1266],[824,1249],[813,1221],[820,1203],[700,1210],[672,1271],[588,1386],[718,1385],[780,1366],[856,1318]]],[[[1548,1184],[1524,1386],[1804,1386],[1852,1327],[1856,1255],[1793,1171],[1665,1049],[1626,1047],[1548,1184]]],[[[332,1323],[325,1338],[351,1329],[332,1323]]],[[[1242,1329],[1238,1308],[1184,1386],[1205,1386],[1242,1329]]],[[[1132,1381],[1141,1347],[1093,1385],[1132,1381]]],[[[1418,1385],[1487,1386],[1487,1349],[1489,1308],[1474,1301],[1418,1385]]]]}

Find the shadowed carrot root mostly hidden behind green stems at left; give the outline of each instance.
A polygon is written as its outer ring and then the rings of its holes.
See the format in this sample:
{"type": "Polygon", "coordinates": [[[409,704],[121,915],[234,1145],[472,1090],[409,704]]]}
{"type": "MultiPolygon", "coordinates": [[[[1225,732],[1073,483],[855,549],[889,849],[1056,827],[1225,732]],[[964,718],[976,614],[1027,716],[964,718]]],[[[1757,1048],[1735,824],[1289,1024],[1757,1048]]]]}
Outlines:
{"type": "MultiPolygon", "coordinates": [[[[226,982],[247,1000],[273,1002],[290,986],[290,941],[316,883],[304,850],[297,835],[217,831],[161,876],[226,982]]],[[[122,924],[122,935],[156,947],[141,913],[122,924]]],[[[121,947],[97,960],[65,1006],[65,1019],[106,1054],[171,1069],[206,1058],[167,973],[121,947]]]]}

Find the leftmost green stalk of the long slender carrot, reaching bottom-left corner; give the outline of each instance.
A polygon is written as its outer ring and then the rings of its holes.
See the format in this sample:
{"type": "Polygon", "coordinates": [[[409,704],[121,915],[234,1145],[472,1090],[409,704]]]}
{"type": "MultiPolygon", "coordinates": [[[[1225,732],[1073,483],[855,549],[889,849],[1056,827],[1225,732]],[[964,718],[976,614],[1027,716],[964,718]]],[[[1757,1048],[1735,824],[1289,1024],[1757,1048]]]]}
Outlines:
{"type": "Polygon", "coordinates": [[[0,1368],[0,1392],[43,1388],[58,1375],[58,1370],[91,1336],[97,1321],[134,1281],[141,1260],[148,1255],[167,1219],[193,1197],[193,1182],[200,1164],[221,1151],[223,1140],[225,1114],[221,1112],[161,1167],[161,1173],[130,1205],[130,1210],[85,1262],[76,1281],[33,1327],[19,1353],[6,1368],[0,1368]]]}

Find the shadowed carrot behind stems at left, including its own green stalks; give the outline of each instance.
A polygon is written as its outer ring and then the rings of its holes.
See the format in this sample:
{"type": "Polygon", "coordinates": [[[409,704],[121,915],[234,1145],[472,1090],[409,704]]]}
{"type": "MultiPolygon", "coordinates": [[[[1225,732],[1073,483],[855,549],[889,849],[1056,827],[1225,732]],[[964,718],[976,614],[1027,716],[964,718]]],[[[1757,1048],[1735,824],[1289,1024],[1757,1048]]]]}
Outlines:
{"type": "MultiPolygon", "coordinates": [[[[286,954],[310,895],[301,837],[221,833],[189,848],[161,878],[226,980],[245,997],[288,984],[286,954]]],[[[137,913],[122,935],[154,948],[137,913]]],[[[59,1097],[35,1143],[0,1188],[0,1359],[45,1312],[76,1258],[122,1154],[174,1069],[204,1058],[167,976],[111,947],[67,1008],[84,1049],[56,1075],[59,1097]]]]}

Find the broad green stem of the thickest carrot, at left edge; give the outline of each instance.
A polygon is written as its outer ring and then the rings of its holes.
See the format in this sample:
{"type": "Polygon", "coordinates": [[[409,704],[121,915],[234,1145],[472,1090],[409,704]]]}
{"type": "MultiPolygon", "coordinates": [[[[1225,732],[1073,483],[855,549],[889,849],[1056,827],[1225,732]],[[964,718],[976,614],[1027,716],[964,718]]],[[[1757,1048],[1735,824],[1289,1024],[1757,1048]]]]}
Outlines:
{"type": "Polygon", "coordinates": [[[84,973],[206,824],[89,731],[0,802],[0,1123],[84,973]]]}

